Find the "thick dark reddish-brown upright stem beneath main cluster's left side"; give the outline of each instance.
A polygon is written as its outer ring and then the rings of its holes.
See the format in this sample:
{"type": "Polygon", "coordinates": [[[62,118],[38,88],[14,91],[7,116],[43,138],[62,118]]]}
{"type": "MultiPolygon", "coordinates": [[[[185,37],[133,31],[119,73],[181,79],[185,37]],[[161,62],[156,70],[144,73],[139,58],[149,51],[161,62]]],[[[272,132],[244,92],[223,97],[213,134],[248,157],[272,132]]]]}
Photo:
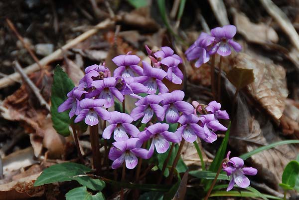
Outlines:
{"type": "Polygon", "coordinates": [[[100,154],[100,144],[99,144],[99,128],[98,124],[94,126],[89,126],[90,143],[92,150],[92,160],[93,166],[96,168],[96,173],[101,173],[101,154],[100,154]]]}

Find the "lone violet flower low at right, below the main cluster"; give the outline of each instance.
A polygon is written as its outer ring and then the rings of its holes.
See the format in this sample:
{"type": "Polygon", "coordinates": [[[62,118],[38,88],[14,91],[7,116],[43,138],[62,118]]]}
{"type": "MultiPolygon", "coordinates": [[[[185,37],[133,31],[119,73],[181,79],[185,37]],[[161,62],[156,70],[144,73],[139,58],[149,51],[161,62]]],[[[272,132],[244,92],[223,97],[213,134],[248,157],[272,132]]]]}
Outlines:
{"type": "Polygon", "coordinates": [[[229,159],[229,155],[230,151],[227,153],[226,157],[229,161],[222,166],[223,171],[230,177],[230,182],[226,191],[232,190],[235,183],[240,188],[247,188],[250,185],[250,181],[245,175],[254,176],[258,173],[258,170],[252,167],[243,168],[244,161],[241,158],[233,157],[229,159]]]}

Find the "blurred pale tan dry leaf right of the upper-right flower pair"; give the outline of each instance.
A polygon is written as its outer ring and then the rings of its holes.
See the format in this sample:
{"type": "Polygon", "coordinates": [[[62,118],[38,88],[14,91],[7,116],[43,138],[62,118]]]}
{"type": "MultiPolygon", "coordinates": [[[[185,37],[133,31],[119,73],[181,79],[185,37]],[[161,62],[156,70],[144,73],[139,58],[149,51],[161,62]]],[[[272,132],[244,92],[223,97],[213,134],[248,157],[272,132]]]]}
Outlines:
{"type": "Polygon", "coordinates": [[[268,26],[263,22],[253,23],[242,12],[234,11],[233,13],[237,31],[243,35],[247,41],[259,44],[278,42],[278,34],[271,26],[268,26]]]}

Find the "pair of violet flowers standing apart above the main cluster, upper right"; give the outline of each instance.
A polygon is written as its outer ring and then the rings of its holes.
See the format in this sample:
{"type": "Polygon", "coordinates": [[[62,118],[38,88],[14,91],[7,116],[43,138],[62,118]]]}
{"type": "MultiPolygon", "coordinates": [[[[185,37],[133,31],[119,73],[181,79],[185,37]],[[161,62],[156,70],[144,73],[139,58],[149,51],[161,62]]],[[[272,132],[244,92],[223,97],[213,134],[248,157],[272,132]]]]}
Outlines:
{"type": "Polygon", "coordinates": [[[231,48],[239,52],[242,46],[233,40],[237,32],[236,26],[225,25],[211,30],[211,35],[202,32],[196,41],[186,50],[188,60],[195,60],[195,67],[209,61],[210,56],[217,53],[221,56],[231,54],[231,48]]]}

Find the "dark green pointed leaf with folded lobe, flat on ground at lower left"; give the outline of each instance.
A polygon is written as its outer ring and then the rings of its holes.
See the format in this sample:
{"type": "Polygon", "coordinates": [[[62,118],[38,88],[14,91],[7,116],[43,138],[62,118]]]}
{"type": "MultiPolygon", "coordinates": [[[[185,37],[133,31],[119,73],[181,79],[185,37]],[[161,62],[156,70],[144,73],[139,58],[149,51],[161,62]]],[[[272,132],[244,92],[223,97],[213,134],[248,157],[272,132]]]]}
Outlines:
{"type": "Polygon", "coordinates": [[[34,186],[41,186],[55,182],[77,181],[94,191],[101,191],[105,187],[105,182],[99,179],[92,179],[89,176],[76,177],[91,172],[91,169],[77,163],[61,163],[45,169],[37,178],[34,186]]]}

